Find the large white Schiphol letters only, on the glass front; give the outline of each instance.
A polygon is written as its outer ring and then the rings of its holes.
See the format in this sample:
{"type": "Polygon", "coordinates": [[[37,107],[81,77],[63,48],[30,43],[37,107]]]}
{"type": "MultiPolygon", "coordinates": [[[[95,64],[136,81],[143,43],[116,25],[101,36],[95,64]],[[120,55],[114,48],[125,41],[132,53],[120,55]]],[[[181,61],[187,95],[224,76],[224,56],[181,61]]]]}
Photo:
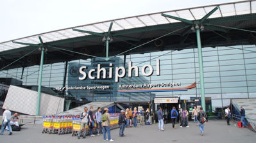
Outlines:
{"type": "MultiPolygon", "coordinates": [[[[156,75],[159,76],[160,75],[160,60],[156,59],[156,75]]],[[[87,78],[87,73],[84,72],[84,70],[87,69],[87,66],[81,66],[79,69],[79,72],[81,73],[81,75],[83,75],[83,77],[79,77],[79,80],[85,80],[87,78]]],[[[129,62],[128,64],[128,77],[132,77],[132,71],[135,70],[135,77],[139,77],[139,67],[138,66],[132,66],[132,61],[129,62]]],[[[98,68],[97,68],[97,77],[92,76],[92,73],[94,73],[96,71],[96,69],[91,69],[88,72],[88,77],[89,79],[101,79],[101,72],[103,72],[103,77],[102,79],[106,79],[107,78],[107,70],[106,68],[101,68],[101,64],[98,64],[98,68]]],[[[149,77],[153,74],[153,66],[151,66],[150,64],[146,64],[144,66],[142,66],[141,68],[141,73],[142,75],[149,77]],[[146,73],[146,69],[149,69],[149,71],[146,73]]],[[[119,82],[119,78],[123,78],[126,75],[126,69],[123,66],[119,66],[119,67],[115,67],[115,82],[119,82]]],[[[110,63],[109,64],[109,72],[108,72],[108,78],[112,79],[113,78],[113,64],[110,63]]]]}

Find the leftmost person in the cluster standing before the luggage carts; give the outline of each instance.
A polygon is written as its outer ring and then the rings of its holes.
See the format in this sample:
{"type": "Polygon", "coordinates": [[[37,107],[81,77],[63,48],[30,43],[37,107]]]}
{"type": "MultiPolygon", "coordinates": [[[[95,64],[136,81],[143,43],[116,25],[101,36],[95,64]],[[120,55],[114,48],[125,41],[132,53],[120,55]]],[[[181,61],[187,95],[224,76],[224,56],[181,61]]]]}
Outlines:
{"type": "Polygon", "coordinates": [[[83,109],[83,112],[81,113],[81,127],[80,127],[80,130],[78,132],[78,139],[80,139],[81,137],[81,131],[83,130],[83,128],[85,128],[84,132],[83,132],[83,139],[86,138],[86,134],[87,134],[87,130],[86,130],[86,126],[88,124],[88,112],[87,112],[88,108],[85,107],[83,109]]]}

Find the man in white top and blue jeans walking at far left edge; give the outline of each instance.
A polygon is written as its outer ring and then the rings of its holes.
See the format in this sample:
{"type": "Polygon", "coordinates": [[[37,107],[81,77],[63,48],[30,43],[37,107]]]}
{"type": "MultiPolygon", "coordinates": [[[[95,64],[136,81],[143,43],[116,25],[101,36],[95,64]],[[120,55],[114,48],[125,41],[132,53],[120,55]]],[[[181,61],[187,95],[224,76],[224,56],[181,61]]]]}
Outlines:
{"type": "Polygon", "coordinates": [[[12,126],[10,124],[11,117],[12,117],[11,115],[12,115],[12,112],[7,107],[5,107],[5,110],[3,112],[3,121],[2,121],[2,128],[1,128],[0,135],[4,134],[4,126],[8,126],[9,135],[12,135],[12,126]]]}

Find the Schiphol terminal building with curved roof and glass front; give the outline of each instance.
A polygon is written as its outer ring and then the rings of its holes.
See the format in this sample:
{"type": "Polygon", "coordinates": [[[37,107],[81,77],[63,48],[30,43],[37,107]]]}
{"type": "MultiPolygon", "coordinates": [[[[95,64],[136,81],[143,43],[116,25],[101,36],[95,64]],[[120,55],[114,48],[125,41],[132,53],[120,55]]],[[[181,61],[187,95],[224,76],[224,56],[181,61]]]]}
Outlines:
{"type": "Polygon", "coordinates": [[[158,105],[156,98],[192,107],[201,105],[203,84],[207,111],[223,112],[230,99],[256,98],[255,29],[256,1],[241,1],[6,41],[1,102],[8,85],[37,91],[41,82],[42,92],[65,98],[66,110],[95,101],[158,105]]]}

